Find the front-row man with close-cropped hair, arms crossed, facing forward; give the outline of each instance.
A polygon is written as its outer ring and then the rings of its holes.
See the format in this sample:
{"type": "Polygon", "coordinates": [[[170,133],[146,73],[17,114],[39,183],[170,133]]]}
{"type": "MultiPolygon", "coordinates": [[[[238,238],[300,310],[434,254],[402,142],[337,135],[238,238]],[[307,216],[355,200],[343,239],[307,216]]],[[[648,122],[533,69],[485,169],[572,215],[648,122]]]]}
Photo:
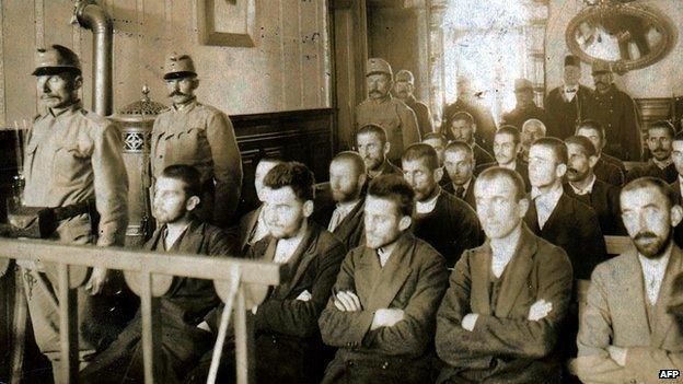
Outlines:
{"type": "Polygon", "coordinates": [[[523,223],[524,182],[494,166],[475,183],[484,245],[451,272],[437,313],[439,383],[559,383],[556,341],[571,296],[566,253],[523,223]]]}

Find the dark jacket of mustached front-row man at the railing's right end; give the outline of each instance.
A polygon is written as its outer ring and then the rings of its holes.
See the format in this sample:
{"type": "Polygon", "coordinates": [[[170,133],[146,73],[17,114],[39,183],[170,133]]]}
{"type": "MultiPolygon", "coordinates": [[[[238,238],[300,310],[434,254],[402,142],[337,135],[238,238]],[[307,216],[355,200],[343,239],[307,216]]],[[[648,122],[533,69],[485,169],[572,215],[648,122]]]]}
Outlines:
{"type": "MultiPolygon", "coordinates": [[[[248,249],[246,258],[273,261],[276,245],[277,240],[268,235],[248,249]]],[[[247,314],[254,324],[257,383],[320,382],[332,352],[323,345],[317,318],[345,255],[344,244],[309,221],[299,247],[285,264],[280,284],[268,290],[255,315],[247,314]],[[311,299],[297,300],[304,291],[311,299]]],[[[247,287],[246,294],[258,295],[262,289],[247,287]]],[[[218,329],[223,307],[221,304],[207,315],[211,329],[218,329]]],[[[230,382],[234,377],[234,350],[232,346],[227,349],[219,382],[230,382]]],[[[209,352],[187,382],[206,383],[210,361],[209,352]]]]}

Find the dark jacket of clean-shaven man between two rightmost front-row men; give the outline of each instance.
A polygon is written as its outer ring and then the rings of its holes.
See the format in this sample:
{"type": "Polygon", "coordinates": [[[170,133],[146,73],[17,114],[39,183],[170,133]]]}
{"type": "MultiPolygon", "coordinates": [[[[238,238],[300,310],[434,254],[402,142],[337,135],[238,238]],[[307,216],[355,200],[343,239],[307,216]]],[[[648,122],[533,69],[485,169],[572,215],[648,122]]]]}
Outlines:
{"type": "Polygon", "coordinates": [[[592,208],[566,194],[557,201],[543,230],[539,228],[533,201],[524,221],[536,235],[565,249],[571,260],[575,279],[590,279],[593,268],[606,259],[607,251],[598,216],[592,208]]]}

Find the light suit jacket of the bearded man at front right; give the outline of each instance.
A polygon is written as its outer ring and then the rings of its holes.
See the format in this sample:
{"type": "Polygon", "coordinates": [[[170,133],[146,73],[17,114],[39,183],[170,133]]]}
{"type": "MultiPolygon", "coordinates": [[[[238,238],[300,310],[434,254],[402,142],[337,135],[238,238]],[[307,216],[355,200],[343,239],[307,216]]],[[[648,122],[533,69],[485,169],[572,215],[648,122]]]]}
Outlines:
{"type": "Polygon", "coordinates": [[[683,370],[683,333],[667,312],[674,278],[682,271],[683,253],[674,246],[652,321],[635,247],[595,268],[577,339],[576,365],[584,383],[660,383],[663,366],[683,370]],[[610,359],[610,345],[628,349],[625,366],[610,359]]]}

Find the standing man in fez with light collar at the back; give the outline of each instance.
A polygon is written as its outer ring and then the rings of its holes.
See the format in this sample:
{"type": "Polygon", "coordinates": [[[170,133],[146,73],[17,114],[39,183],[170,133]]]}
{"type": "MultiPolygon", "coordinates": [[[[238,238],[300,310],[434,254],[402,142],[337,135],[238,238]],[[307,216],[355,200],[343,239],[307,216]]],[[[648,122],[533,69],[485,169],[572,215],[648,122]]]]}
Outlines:
{"type": "Polygon", "coordinates": [[[592,103],[593,91],[579,83],[581,60],[568,55],[565,57],[564,84],[552,90],[545,97],[545,110],[553,119],[548,136],[566,139],[574,135],[577,123],[586,118],[586,108],[592,103]]]}

